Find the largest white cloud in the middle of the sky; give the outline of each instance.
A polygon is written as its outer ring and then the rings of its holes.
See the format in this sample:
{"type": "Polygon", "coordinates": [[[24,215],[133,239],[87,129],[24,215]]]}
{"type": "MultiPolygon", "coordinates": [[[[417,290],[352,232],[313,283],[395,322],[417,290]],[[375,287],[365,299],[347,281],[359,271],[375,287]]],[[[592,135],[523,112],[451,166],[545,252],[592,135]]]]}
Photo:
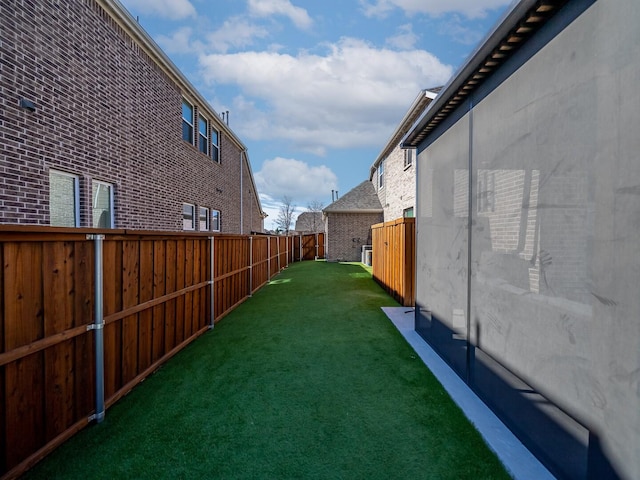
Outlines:
{"type": "Polygon", "coordinates": [[[452,73],[426,51],[376,49],[348,38],[328,45],[325,55],[212,54],[200,64],[211,84],[242,90],[233,112],[243,137],[283,138],[316,154],[382,145],[417,93],[452,73]]]}

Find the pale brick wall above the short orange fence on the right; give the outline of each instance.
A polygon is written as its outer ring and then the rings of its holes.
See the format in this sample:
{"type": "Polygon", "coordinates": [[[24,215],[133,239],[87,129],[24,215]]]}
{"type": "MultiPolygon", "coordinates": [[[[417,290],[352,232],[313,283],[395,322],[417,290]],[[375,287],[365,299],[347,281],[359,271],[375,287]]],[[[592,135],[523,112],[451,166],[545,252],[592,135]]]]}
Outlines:
{"type": "Polygon", "coordinates": [[[378,173],[371,179],[384,208],[384,221],[402,218],[407,208],[415,208],[416,170],[415,152],[413,163],[404,165],[404,150],[396,146],[384,160],[384,187],[378,188],[378,173]]]}

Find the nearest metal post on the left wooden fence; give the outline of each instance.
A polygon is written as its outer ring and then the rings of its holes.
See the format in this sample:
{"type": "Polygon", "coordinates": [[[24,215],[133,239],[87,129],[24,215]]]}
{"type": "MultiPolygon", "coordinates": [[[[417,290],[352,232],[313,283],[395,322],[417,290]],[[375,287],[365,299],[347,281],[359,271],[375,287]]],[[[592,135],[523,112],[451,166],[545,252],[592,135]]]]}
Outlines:
{"type": "Polygon", "coordinates": [[[96,353],[96,413],[92,420],[97,423],[104,420],[104,310],[103,310],[103,258],[102,242],[104,235],[87,235],[87,240],[93,240],[93,272],[94,272],[94,323],[87,326],[87,330],[95,331],[96,353]]]}

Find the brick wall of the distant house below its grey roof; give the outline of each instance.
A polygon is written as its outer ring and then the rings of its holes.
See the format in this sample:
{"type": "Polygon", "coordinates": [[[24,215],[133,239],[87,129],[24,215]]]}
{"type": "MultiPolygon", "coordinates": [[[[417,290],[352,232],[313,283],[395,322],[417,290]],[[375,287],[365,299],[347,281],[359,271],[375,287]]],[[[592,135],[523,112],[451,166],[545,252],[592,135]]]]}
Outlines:
{"type": "Polygon", "coordinates": [[[327,261],[359,262],[363,245],[371,245],[371,225],[382,213],[327,213],[327,261]]]}

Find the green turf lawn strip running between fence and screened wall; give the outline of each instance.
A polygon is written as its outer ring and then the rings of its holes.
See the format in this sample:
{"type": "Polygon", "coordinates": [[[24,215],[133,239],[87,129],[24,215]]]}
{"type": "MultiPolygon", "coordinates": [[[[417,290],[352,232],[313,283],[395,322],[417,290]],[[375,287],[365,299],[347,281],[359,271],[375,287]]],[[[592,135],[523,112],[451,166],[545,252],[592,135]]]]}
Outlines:
{"type": "Polygon", "coordinates": [[[360,265],[291,265],[27,478],[509,478],[360,265]]]}

